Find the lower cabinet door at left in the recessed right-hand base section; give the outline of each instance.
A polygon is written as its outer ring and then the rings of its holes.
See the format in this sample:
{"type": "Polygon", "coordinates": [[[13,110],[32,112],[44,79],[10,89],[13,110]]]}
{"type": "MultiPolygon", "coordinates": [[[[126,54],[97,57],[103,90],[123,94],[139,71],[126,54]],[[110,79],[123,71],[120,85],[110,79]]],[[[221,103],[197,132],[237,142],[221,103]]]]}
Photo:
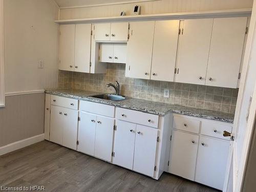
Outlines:
{"type": "Polygon", "coordinates": [[[194,181],[199,136],[173,131],[169,173],[194,181]]]}

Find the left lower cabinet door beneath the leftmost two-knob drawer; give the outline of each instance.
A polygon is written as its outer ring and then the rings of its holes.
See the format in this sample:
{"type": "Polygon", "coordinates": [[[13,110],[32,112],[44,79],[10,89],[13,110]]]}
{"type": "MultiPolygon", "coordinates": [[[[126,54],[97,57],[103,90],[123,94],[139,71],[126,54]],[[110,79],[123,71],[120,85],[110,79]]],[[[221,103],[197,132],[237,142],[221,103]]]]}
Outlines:
{"type": "Polygon", "coordinates": [[[60,106],[51,105],[50,141],[62,145],[63,136],[63,109],[60,106]]]}

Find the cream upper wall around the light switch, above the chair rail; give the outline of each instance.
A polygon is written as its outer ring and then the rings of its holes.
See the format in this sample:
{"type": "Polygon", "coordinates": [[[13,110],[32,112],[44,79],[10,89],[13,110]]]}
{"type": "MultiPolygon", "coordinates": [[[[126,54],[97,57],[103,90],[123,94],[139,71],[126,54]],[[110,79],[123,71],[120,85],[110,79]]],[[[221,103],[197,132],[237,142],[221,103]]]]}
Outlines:
{"type": "Polygon", "coordinates": [[[52,0],[4,1],[6,93],[57,87],[57,16],[52,0]]]}

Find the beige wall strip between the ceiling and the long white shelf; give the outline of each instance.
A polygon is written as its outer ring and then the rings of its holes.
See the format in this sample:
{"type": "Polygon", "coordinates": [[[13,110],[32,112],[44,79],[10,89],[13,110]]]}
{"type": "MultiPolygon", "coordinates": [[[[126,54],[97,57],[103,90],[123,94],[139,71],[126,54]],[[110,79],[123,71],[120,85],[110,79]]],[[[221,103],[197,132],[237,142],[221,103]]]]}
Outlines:
{"type": "Polygon", "coordinates": [[[141,14],[209,11],[252,8],[253,0],[161,0],[110,6],[61,9],[60,19],[118,16],[121,11],[131,15],[135,5],[141,6],[141,14]]]}

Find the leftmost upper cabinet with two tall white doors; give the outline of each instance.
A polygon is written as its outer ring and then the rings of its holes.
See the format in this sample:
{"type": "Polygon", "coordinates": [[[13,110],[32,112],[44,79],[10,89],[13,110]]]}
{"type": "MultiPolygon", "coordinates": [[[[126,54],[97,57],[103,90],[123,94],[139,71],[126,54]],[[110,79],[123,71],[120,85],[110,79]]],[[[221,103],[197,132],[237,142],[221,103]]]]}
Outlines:
{"type": "Polygon", "coordinates": [[[91,24],[60,25],[59,70],[90,73],[91,24]]]}

